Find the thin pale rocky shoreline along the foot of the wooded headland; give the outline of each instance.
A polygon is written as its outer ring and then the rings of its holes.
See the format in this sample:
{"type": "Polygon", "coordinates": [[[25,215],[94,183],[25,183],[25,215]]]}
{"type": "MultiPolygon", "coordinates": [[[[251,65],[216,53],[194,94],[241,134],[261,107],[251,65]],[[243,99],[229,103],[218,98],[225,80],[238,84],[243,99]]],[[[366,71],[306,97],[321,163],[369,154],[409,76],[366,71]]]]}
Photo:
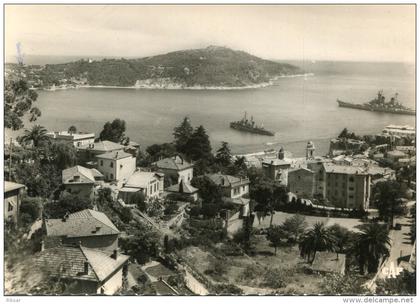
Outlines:
{"type": "Polygon", "coordinates": [[[312,77],[314,73],[304,73],[295,75],[281,75],[272,78],[268,82],[263,82],[254,85],[240,86],[240,87],[225,87],[225,86],[183,86],[180,84],[142,84],[134,86],[106,86],[106,85],[77,85],[69,87],[56,87],[42,88],[36,90],[42,90],[47,92],[55,92],[62,90],[77,90],[77,89],[131,89],[131,90],[212,90],[212,91],[229,91],[229,90],[249,90],[249,89],[260,89],[275,85],[274,81],[282,78],[296,78],[296,77],[312,77]]]}

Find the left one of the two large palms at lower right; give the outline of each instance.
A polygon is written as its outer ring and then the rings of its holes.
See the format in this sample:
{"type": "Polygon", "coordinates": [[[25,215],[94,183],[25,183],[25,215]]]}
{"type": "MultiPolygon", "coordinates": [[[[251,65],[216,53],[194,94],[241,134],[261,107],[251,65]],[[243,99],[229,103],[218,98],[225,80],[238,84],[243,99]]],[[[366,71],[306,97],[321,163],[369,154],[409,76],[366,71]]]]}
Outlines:
{"type": "Polygon", "coordinates": [[[305,233],[299,244],[300,255],[306,257],[308,263],[315,259],[317,251],[334,251],[336,248],[336,239],[331,230],[325,227],[322,222],[317,222],[305,233]]]}

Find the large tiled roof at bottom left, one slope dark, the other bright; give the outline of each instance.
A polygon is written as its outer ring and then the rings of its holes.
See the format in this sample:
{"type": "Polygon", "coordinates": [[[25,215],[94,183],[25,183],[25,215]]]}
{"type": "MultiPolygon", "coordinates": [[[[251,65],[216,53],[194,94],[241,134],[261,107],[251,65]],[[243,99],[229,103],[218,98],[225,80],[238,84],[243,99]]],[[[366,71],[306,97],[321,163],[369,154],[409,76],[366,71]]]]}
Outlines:
{"type": "Polygon", "coordinates": [[[35,258],[38,267],[46,268],[53,277],[102,282],[129,259],[117,254],[117,258],[109,254],[86,248],[54,247],[41,251],[35,258]],[[85,262],[89,264],[89,272],[85,273],[85,262]]]}

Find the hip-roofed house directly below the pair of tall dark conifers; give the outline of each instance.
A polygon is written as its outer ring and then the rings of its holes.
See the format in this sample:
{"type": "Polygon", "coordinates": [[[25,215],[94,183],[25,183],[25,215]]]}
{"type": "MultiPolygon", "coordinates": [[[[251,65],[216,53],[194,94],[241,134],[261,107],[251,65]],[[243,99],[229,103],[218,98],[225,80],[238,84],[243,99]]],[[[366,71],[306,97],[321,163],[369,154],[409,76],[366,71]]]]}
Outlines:
{"type": "Polygon", "coordinates": [[[153,163],[153,167],[156,171],[176,181],[176,184],[179,184],[181,180],[189,183],[194,174],[194,165],[179,155],[161,159],[153,163]]]}

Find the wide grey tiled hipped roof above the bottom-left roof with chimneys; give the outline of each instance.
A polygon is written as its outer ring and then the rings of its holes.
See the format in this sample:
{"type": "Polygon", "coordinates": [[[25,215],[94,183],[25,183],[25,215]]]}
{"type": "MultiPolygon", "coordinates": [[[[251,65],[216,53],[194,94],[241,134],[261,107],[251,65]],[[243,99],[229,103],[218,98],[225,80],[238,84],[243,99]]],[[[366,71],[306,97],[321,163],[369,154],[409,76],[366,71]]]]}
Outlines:
{"type": "Polygon", "coordinates": [[[91,209],[72,213],[66,220],[45,220],[45,227],[48,236],[82,237],[120,233],[104,213],[91,209]]]}

